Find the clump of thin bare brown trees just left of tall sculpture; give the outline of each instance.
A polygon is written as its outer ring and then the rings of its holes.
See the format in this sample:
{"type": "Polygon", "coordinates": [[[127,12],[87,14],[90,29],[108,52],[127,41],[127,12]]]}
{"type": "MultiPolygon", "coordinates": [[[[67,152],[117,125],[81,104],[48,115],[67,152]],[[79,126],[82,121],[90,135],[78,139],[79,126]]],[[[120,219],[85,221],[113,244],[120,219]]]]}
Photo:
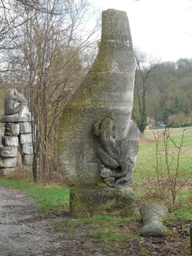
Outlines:
{"type": "MultiPolygon", "coordinates": [[[[24,0],[15,6],[25,8],[23,25],[17,30],[17,44],[7,52],[10,74],[14,82],[30,98],[34,131],[35,181],[58,171],[56,136],[58,118],[71,93],[85,75],[88,51],[98,27],[86,31],[87,0],[38,2],[38,8],[24,0]],[[39,6],[40,5],[40,6],[39,6]],[[40,12],[40,9],[43,12],[40,12]],[[45,10],[48,10],[45,12],[45,10]],[[13,70],[15,72],[13,72],[13,70]],[[12,75],[14,74],[14,79],[12,75]]],[[[95,44],[96,45],[96,44],[95,44]]],[[[90,52],[90,51],[89,51],[90,52]]]]}

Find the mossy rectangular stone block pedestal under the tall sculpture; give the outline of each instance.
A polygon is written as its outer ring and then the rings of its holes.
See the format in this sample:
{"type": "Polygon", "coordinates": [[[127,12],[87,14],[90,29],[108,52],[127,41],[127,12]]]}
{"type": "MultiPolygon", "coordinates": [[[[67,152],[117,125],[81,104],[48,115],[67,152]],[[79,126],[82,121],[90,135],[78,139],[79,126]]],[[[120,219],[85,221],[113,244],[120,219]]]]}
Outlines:
{"type": "Polygon", "coordinates": [[[130,187],[71,188],[71,218],[87,218],[98,215],[127,217],[134,214],[134,211],[134,191],[130,187]]]}

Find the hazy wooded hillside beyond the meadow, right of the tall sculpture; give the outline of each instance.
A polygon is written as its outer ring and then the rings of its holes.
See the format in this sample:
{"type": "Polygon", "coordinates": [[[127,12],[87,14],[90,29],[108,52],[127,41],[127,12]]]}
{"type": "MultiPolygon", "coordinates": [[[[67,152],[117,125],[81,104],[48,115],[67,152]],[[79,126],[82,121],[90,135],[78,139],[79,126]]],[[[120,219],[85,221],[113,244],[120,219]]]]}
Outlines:
{"type": "Polygon", "coordinates": [[[146,125],[192,125],[192,58],[177,62],[148,60],[136,51],[133,118],[146,125]]]}

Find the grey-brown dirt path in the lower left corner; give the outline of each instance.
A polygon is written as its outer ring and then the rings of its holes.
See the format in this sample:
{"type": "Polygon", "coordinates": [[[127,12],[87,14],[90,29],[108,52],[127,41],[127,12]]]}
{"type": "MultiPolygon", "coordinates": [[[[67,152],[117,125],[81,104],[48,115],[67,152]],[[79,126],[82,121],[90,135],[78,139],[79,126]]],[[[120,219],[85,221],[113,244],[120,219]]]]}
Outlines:
{"type": "Polygon", "coordinates": [[[86,247],[81,250],[80,245],[56,232],[51,219],[38,213],[31,198],[0,185],[0,256],[104,255],[86,247]]]}

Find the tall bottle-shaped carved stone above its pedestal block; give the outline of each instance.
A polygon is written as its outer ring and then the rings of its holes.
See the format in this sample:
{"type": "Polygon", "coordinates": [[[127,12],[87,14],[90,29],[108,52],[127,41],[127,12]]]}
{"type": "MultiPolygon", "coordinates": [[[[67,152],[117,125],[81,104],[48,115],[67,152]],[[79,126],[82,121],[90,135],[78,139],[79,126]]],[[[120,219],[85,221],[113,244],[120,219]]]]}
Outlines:
{"type": "Polygon", "coordinates": [[[101,178],[105,182],[110,180],[106,183],[111,186],[131,183],[138,149],[138,130],[131,121],[133,92],[134,51],[127,14],[109,9],[102,13],[98,57],[68,101],[60,121],[58,157],[68,185],[97,184],[101,178]],[[97,134],[95,130],[99,130],[106,118],[111,120],[112,127],[108,129],[106,124],[102,135],[97,134]],[[114,144],[112,149],[118,151],[118,159],[106,150],[114,144]],[[123,159],[122,144],[128,147],[123,150],[123,159]],[[104,158],[99,158],[98,148],[102,148],[104,158]],[[108,166],[106,159],[113,164],[108,166]],[[107,178],[101,164],[109,169],[107,178]],[[121,177],[116,176],[112,181],[119,170],[121,177]],[[118,178],[122,179],[117,184],[118,178]]]}

